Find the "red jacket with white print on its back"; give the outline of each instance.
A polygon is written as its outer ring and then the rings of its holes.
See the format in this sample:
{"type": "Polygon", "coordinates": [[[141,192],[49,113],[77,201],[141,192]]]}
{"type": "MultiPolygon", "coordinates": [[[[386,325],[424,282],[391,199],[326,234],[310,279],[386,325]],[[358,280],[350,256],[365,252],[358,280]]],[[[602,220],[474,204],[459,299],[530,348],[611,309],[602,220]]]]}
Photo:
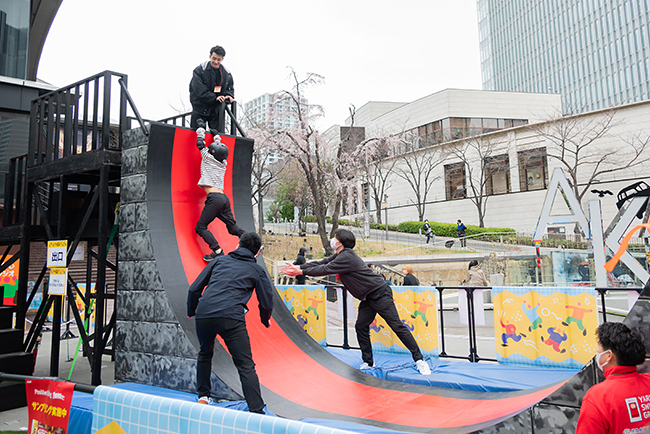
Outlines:
{"type": "Polygon", "coordinates": [[[650,374],[613,366],[605,369],[605,378],[585,394],[576,434],[650,432],[650,374]]]}

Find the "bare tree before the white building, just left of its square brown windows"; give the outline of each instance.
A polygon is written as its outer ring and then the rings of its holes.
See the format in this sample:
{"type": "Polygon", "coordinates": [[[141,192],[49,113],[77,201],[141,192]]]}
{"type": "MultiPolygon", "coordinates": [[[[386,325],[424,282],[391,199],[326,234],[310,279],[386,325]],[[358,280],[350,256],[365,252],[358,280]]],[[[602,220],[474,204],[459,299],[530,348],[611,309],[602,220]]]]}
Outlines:
{"type": "MultiPolygon", "coordinates": [[[[406,181],[413,191],[415,200],[410,199],[418,210],[418,218],[424,220],[427,197],[435,176],[437,167],[444,161],[444,154],[439,146],[419,148],[419,140],[411,133],[402,133],[399,136],[400,155],[395,165],[395,174],[406,181]]],[[[388,222],[386,222],[388,223],[388,222]]]]}

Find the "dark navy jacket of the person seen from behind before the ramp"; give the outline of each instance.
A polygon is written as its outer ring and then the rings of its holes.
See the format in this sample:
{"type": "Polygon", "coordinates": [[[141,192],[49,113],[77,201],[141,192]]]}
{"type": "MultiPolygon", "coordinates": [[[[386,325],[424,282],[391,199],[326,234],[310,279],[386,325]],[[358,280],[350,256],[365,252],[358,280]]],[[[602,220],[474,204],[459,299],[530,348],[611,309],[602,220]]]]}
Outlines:
{"type": "Polygon", "coordinates": [[[271,281],[255,255],[239,247],[228,255],[217,256],[201,271],[187,294],[187,316],[244,321],[253,289],[260,315],[270,318],[274,291],[271,281]]]}

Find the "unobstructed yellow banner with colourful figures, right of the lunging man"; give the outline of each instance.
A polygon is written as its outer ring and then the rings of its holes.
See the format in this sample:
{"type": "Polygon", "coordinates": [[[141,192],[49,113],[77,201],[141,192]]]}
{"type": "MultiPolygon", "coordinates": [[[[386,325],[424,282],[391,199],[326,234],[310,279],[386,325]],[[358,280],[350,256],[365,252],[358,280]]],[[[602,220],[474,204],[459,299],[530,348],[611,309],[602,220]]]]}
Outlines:
{"type": "Polygon", "coordinates": [[[582,368],[596,353],[596,291],[588,287],[494,287],[497,360],[582,368]]]}

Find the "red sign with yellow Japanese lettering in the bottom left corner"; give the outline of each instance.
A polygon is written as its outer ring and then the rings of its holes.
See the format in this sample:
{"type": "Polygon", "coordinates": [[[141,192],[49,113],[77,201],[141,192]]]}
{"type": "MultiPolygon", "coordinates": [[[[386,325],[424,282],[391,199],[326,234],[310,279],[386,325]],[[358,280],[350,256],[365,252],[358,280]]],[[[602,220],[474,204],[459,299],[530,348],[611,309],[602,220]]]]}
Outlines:
{"type": "Polygon", "coordinates": [[[25,380],[29,434],[65,434],[68,431],[74,383],[25,380]]]}

